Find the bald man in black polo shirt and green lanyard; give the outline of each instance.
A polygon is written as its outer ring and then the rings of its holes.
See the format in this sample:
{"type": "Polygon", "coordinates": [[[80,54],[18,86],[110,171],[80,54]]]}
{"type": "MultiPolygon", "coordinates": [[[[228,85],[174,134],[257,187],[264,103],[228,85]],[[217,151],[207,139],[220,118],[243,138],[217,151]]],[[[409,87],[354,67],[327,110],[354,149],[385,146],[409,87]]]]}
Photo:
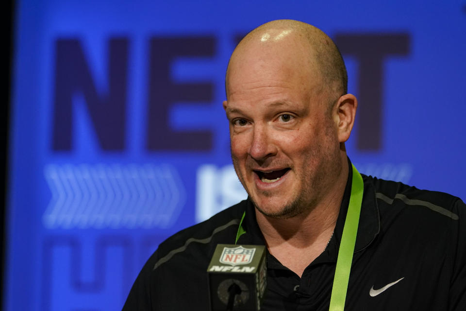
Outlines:
{"type": "Polygon", "coordinates": [[[327,35],[259,26],[232,54],[226,93],[249,197],[161,243],[124,310],[209,310],[217,244],[266,246],[262,310],[466,310],[465,204],[352,167],[357,100],[327,35]]]}

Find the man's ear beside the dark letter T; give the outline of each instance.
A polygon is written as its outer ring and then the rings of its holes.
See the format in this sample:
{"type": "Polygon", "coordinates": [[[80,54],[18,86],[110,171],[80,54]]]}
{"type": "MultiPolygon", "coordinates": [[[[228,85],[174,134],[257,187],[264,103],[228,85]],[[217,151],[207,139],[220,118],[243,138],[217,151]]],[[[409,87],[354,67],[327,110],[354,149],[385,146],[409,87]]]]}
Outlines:
{"type": "Polygon", "coordinates": [[[337,126],[340,142],[345,142],[350,138],[357,108],[358,100],[353,94],[343,95],[333,107],[333,120],[337,126]]]}

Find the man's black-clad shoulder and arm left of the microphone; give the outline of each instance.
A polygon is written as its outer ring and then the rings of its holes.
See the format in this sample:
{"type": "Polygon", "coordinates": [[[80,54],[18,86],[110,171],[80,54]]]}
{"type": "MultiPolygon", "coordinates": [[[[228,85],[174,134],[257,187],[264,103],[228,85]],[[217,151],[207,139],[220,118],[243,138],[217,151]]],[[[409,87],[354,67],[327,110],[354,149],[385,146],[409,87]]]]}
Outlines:
{"type": "Polygon", "coordinates": [[[242,201],[162,242],[139,273],[123,310],[207,310],[207,266],[217,244],[234,243],[248,204],[242,201]]]}

